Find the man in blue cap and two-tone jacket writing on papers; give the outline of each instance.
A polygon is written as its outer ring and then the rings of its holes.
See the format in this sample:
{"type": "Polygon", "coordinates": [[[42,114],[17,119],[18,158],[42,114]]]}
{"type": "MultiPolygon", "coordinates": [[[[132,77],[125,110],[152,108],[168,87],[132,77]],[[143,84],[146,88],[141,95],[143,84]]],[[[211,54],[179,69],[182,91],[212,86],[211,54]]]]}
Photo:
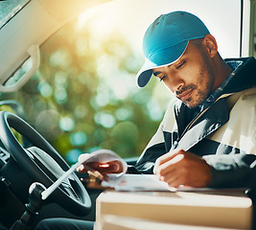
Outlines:
{"type": "MultiPolygon", "coordinates": [[[[138,85],[144,87],[153,75],[177,100],[135,170],[155,173],[172,187],[253,188],[256,60],[223,60],[214,36],[188,12],[155,19],[144,36],[143,49],[146,62],[137,75],[138,85]]],[[[103,173],[100,163],[98,170],[103,173]]],[[[84,171],[86,166],[78,169],[84,171]]],[[[59,223],[46,220],[38,229],[57,229],[59,223]]],[[[67,220],[65,227],[61,229],[80,229],[70,227],[67,220]]]]}

